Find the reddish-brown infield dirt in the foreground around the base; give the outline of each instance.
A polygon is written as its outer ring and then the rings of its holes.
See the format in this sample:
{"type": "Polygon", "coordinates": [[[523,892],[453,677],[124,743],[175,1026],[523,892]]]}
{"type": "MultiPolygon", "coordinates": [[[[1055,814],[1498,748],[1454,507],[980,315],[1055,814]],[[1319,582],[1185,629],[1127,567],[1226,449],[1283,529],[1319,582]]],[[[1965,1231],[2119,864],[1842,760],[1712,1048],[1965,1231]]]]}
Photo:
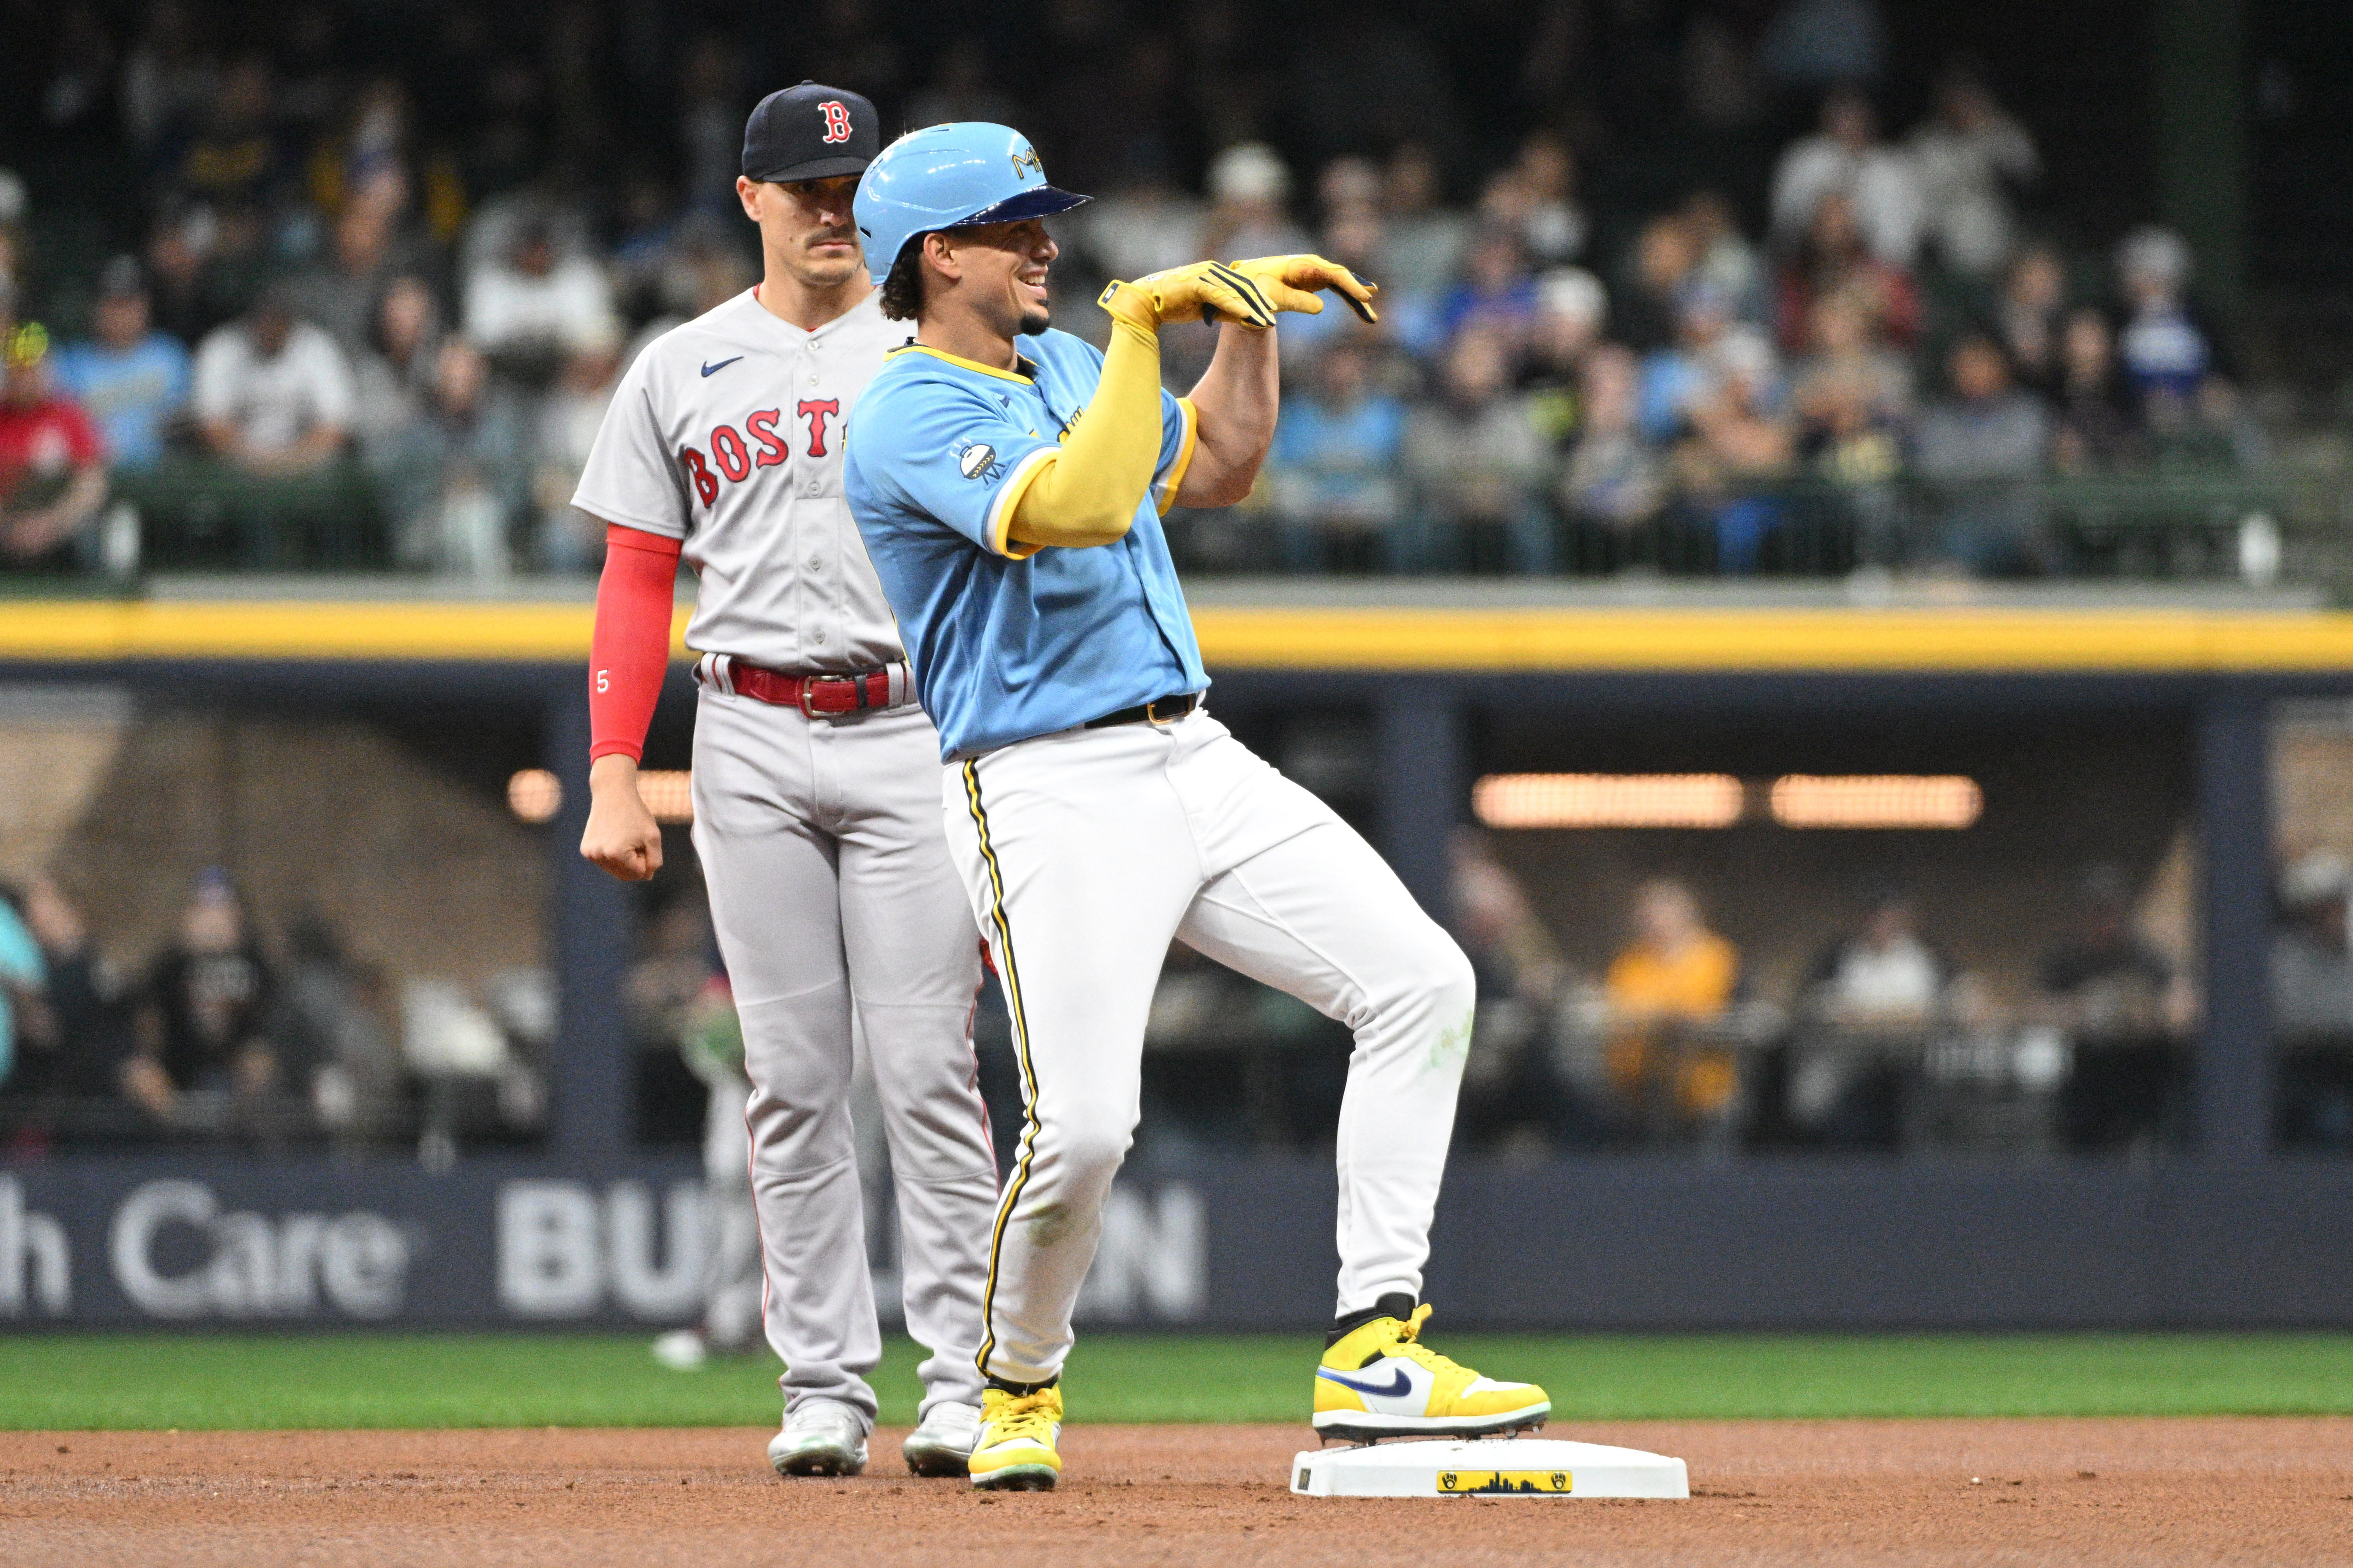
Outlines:
{"type": "Polygon", "coordinates": [[[12,1431],[0,1563],[2353,1563],[2353,1420],[1706,1422],[1689,1502],[1292,1497],[1292,1427],[1073,1427],[1049,1495],[765,1431],[12,1431]]]}

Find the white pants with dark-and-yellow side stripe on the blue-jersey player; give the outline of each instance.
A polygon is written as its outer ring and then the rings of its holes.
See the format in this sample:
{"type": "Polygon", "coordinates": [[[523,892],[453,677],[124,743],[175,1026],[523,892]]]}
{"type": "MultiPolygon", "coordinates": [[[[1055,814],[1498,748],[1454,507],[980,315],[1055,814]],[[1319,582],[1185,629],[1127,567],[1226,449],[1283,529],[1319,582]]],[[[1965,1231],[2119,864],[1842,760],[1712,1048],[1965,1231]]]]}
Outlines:
{"type": "Polygon", "coordinates": [[[1372,845],[1207,713],[951,763],[944,810],[1005,977],[1028,1107],[991,1234],[981,1368],[1045,1382],[1071,1351],[1169,937],[1355,1031],[1337,1311],[1419,1297],[1473,979],[1372,845]]]}

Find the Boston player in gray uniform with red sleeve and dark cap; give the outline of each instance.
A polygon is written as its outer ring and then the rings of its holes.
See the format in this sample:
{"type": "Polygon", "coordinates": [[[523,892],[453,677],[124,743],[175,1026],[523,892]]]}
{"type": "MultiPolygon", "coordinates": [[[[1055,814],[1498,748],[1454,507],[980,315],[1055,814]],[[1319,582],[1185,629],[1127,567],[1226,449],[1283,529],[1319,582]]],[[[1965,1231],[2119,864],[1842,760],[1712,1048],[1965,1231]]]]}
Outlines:
{"type": "Polygon", "coordinates": [[[638,756],[671,647],[678,558],[699,577],[694,848],[751,1078],[779,1474],[856,1474],[882,1356],[852,1149],[852,1026],[899,1191],[922,1422],[915,1474],[965,1474],[998,1177],[972,1057],[979,935],[939,815],[939,735],[842,499],[842,428],[906,339],[852,224],[873,106],[802,82],[744,129],[755,290],[654,339],[621,377],[572,504],[607,525],[591,650],[581,855],[652,876],[638,756]]]}

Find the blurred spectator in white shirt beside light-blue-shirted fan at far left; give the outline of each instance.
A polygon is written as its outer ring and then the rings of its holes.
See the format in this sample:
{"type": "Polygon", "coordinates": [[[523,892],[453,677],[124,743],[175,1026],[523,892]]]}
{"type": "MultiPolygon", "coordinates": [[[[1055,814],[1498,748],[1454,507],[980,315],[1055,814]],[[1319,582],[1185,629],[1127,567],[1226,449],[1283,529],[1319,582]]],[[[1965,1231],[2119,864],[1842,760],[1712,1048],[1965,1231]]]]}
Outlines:
{"type": "Polygon", "coordinates": [[[195,419],[205,445],[249,473],[322,469],[351,431],[351,367],[332,337],[294,320],[278,283],[195,351],[195,419]]]}

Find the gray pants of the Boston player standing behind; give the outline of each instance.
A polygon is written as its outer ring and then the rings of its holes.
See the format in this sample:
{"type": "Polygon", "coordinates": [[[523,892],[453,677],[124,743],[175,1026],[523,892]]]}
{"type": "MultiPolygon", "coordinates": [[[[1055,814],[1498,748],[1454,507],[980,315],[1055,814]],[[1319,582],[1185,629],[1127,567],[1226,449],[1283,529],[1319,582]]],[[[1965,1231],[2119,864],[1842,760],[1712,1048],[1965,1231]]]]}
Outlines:
{"type": "Polygon", "coordinates": [[[974,1370],[998,1175],[972,1057],[981,951],[939,833],[939,732],[915,706],[807,718],[701,687],[694,850],[744,1019],[767,1342],[786,1410],[873,1422],[882,1358],[849,1123],[852,1017],[899,1191],[922,1410],[974,1370]]]}

